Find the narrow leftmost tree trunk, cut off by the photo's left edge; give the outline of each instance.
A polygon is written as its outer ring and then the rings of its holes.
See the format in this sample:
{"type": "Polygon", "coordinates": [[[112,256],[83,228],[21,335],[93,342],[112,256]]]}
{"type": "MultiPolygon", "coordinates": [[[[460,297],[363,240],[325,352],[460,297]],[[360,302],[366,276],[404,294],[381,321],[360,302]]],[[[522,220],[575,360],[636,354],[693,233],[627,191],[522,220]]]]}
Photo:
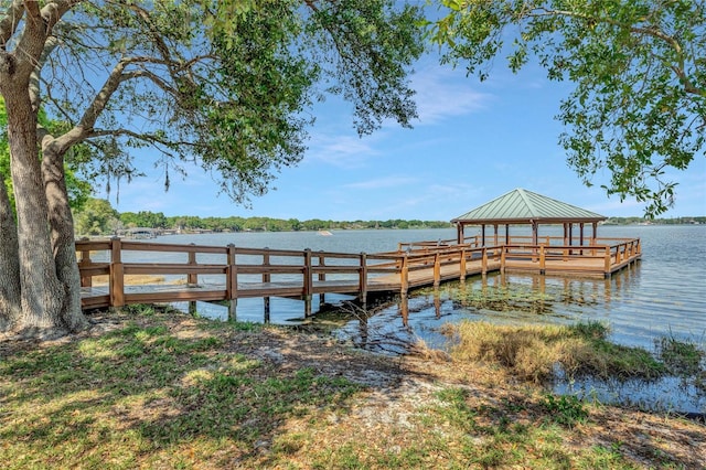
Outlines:
{"type": "Polygon", "coordinates": [[[3,174],[0,174],[0,331],[6,331],[18,322],[21,306],[18,229],[3,174]]]}

